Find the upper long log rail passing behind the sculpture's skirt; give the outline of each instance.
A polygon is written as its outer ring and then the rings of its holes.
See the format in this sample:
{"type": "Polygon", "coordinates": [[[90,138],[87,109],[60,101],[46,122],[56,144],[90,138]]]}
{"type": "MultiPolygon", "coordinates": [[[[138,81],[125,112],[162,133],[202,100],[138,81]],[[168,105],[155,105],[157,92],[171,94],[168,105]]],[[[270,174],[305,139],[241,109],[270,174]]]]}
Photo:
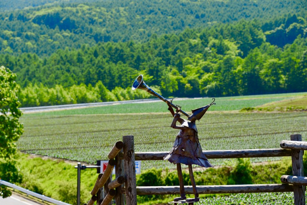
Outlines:
{"type": "MultiPolygon", "coordinates": [[[[169,152],[135,152],[135,160],[163,160],[169,152]]],[[[208,159],[230,159],[251,157],[285,157],[291,156],[287,149],[252,149],[252,150],[207,150],[203,151],[208,159]]],[[[124,159],[123,153],[119,158],[124,159]]]]}

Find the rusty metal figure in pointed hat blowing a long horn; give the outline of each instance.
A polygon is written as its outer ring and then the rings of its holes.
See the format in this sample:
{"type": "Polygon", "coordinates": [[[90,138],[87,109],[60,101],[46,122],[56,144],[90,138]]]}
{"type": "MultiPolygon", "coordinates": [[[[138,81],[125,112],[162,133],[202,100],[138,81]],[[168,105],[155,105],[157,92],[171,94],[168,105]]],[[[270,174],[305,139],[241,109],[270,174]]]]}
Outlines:
{"type": "Polygon", "coordinates": [[[186,112],[181,110],[180,105],[173,104],[172,100],[167,100],[166,98],[162,97],[157,92],[153,91],[149,86],[145,84],[143,81],[143,76],[139,75],[133,85],[132,90],[135,89],[142,89],[150,94],[156,96],[157,98],[161,99],[162,101],[166,102],[169,106],[168,110],[173,115],[174,119],[171,124],[171,127],[174,129],[179,129],[179,133],[175,139],[175,143],[173,145],[172,150],[164,157],[164,160],[168,160],[169,162],[177,165],[177,173],[180,185],[180,197],[174,198],[174,201],[171,203],[194,203],[199,201],[199,195],[196,189],[196,183],[194,180],[192,164],[199,165],[201,167],[213,167],[212,164],[208,161],[204,153],[202,152],[199,139],[198,139],[198,131],[196,128],[195,121],[200,120],[205,112],[211,105],[215,105],[215,99],[212,98],[213,102],[209,105],[204,107],[197,108],[192,110],[192,115],[188,115],[186,112]],[[175,108],[176,113],[174,112],[173,108],[175,108]],[[184,114],[188,117],[188,120],[183,119],[180,117],[180,113],[184,114]],[[179,122],[180,125],[176,125],[179,122]],[[187,199],[185,196],[185,188],[183,184],[183,177],[182,177],[182,169],[181,164],[188,165],[188,170],[190,174],[190,180],[193,187],[194,198],[187,199]]]}

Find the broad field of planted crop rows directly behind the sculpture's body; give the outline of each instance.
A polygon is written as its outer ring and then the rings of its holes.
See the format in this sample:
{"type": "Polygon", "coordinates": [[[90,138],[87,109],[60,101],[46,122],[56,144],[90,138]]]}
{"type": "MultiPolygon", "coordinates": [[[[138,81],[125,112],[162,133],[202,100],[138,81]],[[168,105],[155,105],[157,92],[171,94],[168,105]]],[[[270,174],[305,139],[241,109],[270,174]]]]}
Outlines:
{"type": "MultiPolygon", "coordinates": [[[[170,151],[177,130],[171,114],[24,115],[21,151],[87,163],[107,159],[123,135],[134,135],[135,151],[170,151]]],[[[307,113],[206,113],[196,122],[203,150],[278,148],[281,140],[300,133],[307,140],[307,113]]],[[[263,161],[268,158],[255,158],[263,161]]],[[[273,160],[277,158],[273,158],[273,160]]],[[[270,159],[272,160],[272,158],[270,159]]],[[[212,164],[223,164],[212,159],[212,164]]],[[[167,161],[143,162],[144,168],[169,167],[167,161]]]]}

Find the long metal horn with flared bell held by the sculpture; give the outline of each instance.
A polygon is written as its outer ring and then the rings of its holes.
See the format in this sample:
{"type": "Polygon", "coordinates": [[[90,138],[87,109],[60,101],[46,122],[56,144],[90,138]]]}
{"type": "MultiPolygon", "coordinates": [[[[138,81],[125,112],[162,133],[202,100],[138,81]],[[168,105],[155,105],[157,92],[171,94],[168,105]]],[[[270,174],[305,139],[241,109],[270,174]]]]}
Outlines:
{"type": "Polygon", "coordinates": [[[146,83],[143,81],[143,75],[139,75],[133,82],[132,84],[132,90],[135,89],[142,89],[145,90],[147,92],[149,92],[150,94],[156,96],[157,98],[159,98],[160,100],[166,102],[168,105],[172,106],[173,108],[176,109],[176,111],[181,112],[182,114],[184,114],[185,116],[189,117],[190,115],[188,115],[185,111],[181,110],[180,108],[178,108],[175,104],[173,104],[172,102],[169,102],[166,98],[164,98],[162,95],[160,95],[159,93],[155,92],[153,89],[151,89],[149,86],[146,85],[146,83]]]}

